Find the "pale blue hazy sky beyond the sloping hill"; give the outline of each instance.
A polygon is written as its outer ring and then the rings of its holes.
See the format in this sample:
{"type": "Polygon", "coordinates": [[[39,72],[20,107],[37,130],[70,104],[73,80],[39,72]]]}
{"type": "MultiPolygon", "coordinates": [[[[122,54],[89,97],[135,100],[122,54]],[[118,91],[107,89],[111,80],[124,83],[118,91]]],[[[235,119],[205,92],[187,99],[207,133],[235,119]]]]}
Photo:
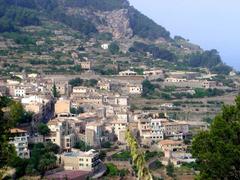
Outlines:
{"type": "Polygon", "coordinates": [[[129,0],[136,9],[240,70],[240,0],[129,0]]]}

